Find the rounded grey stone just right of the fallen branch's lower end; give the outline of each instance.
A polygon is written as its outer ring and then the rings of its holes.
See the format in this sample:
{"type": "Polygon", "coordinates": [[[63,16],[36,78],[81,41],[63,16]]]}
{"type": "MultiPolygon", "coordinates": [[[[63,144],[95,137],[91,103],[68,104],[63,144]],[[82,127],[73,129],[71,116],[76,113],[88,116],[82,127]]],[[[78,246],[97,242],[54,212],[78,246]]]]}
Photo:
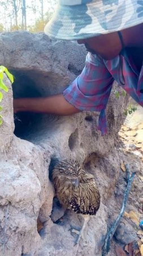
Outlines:
{"type": "Polygon", "coordinates": [[[124,245],[128,245],[128,243],[136,240],[137,235],[133,229],[127,228],[127,226],[125,226],[125,224],[122,222],[116,229],[114,237],[124,245]]]}

